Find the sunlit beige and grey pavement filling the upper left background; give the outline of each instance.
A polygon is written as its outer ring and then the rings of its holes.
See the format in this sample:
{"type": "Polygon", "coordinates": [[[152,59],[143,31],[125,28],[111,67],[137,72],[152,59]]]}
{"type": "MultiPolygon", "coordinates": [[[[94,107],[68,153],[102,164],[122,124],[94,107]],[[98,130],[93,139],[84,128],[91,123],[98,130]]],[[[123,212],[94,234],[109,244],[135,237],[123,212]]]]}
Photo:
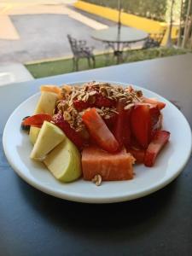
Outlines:
{"type": "Polygon", "coordinates": [[[66,5],[73,2],[0,1],[0,85],[33,79],[21,63],[71,55],[68,33],[103,49],[101,43],[90,38],[90,33],[113,22],[66,5]]]}

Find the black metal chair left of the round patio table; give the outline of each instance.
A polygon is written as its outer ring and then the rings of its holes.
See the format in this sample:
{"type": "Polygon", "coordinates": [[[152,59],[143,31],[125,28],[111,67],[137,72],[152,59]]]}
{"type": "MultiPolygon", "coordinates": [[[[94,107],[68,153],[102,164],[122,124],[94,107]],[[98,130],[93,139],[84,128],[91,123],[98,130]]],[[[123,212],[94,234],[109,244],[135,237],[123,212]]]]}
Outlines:
{"type": "Polygon", "coordinates": [[[91,61],[93,67],[96,67],[96,59],[95,55],[93,54],[94,47],[87,46],[86,41],[84,40],[77,40],[70,35],[67,35],[69,44],[71,46],[73,52],[73,70],[79,70],[79,59],[86,58],[88,61],[89,67],[91,67],[91,61]]]}

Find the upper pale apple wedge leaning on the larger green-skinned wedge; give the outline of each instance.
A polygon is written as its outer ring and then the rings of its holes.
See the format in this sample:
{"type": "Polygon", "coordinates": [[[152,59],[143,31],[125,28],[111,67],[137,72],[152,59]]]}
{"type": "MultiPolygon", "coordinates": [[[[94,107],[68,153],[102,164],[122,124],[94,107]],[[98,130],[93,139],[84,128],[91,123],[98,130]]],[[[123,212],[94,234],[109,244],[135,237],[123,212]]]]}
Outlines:
{"type": "Polygon", "coordinates": [[[44,157],[65,139],[65,134],[56,125],[44,121],[38,139],[32,148],[31,159],[44,160],[44,157]]]}

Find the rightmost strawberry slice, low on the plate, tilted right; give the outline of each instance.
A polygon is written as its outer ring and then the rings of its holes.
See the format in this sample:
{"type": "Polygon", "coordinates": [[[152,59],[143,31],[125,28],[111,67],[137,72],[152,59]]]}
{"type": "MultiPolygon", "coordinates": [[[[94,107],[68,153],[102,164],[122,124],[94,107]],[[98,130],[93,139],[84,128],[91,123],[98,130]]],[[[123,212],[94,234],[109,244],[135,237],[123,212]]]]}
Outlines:
{"type": "Polygon", "coordinates": [[[154,138],[149,143],[144,157],[144,165],[151,167],[154,166],[154,161],[157,155],[160,153],[160,150],[168,142],[170,137],[169,131],[155,131],[154,138]]]}

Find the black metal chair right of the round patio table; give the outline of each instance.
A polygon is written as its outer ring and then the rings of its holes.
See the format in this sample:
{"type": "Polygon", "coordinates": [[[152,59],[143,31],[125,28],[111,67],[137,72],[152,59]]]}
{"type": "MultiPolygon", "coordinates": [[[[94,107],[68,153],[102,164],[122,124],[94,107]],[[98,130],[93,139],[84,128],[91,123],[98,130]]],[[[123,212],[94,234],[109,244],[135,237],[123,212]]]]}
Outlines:
{"type": "Polygon", "coordinates": [[[143,44],[143,49],[149,49],[154,47],[160,47],[160,44],[165,36],[166,29],[160,33],[150,33],[148,38],[143,44]]]}

